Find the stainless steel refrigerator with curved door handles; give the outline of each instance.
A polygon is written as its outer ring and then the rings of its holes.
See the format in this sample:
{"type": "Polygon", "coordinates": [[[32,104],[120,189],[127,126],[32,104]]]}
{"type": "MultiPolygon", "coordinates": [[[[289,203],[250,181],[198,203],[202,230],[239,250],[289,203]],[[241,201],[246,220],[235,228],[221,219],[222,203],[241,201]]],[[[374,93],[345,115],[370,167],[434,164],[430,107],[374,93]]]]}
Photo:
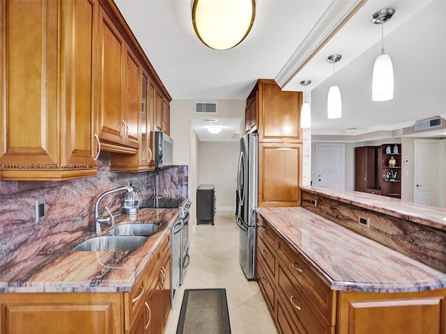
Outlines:
{"type": "Polygon", "coordinates": [[[255,280],[256,262],[256,214],[257,173],[259,137],[256,133],[240,138],[240,157],[238,159],[238,213],[239,233],[238,257],[240,266],[248,280],[255,280]]]}

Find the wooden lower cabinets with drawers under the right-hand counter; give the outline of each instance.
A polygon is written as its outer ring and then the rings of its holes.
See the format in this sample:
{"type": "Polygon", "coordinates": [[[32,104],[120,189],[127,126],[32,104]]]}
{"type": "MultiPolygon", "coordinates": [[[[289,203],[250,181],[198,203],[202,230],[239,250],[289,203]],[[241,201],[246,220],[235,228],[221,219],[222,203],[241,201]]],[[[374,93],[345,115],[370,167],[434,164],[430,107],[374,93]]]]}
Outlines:
{"type": "Polygon", "coordinates": [[[446,334],[446,289],[334,291],[272,231],[257,216],[256,275],[279,333],[446,334]]]}

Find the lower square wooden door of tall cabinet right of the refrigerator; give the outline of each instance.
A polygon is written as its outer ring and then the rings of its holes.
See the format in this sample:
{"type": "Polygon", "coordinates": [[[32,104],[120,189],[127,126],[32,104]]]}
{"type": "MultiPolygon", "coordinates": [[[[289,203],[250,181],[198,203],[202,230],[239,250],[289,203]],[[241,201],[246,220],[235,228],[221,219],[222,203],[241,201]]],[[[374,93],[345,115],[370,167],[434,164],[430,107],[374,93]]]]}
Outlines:
{"type": "Polygon", "coordinates": [[[259,143],[259,207],[300,206],[302,144],[259,143]]]}

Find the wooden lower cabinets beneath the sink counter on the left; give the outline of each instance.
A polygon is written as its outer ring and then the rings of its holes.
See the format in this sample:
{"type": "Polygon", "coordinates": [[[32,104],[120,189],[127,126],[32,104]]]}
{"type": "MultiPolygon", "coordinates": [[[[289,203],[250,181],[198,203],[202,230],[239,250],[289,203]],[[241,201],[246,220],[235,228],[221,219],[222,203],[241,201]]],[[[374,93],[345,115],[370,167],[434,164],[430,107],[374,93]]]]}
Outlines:
{"type": "Polygon", "coordinates": [[[131,292],[0,294],[0,334],[162,334],[171,310],[170,235],[131,292]]]}

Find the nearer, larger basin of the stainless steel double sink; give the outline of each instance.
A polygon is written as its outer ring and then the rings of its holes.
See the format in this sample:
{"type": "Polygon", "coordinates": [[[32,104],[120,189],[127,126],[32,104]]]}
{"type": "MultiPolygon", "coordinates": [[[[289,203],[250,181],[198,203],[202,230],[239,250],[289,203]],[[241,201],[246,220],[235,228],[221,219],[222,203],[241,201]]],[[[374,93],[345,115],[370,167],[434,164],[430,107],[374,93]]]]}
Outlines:
{"type": "Polygon", "coordinates": [[[146,237],[107,236],[88,239],[72,250],[84,252],[125,252],[141,247],[146,237]]]}

